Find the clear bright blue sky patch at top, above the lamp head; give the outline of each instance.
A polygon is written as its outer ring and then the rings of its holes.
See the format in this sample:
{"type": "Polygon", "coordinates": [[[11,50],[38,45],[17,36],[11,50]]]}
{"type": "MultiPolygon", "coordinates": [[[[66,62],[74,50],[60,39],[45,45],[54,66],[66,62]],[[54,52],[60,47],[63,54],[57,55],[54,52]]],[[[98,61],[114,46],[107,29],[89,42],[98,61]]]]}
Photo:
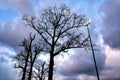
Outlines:
{"type": "Polygon", "coordinates": [[[80,10],[87,16],[94,16],[98,13],[103,0],[81,0],[79,1],[80,10]]]}

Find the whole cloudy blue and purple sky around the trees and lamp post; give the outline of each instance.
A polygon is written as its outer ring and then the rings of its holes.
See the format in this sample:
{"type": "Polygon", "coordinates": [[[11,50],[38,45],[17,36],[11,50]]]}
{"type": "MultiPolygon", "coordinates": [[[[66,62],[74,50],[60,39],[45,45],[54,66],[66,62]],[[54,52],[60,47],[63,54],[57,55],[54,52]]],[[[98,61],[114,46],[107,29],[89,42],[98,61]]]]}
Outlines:
{"type": "MultiPolygon", "coordinates": [[[[92,20],[89,28],[99,49],[95,56],[100,79],[120,80],[120,0],[0,0],[0,80],[18,80],[11,58],[33,31],[25,27],[23,14],[39,16],[61,4],[92,20]]],[[[56,80],[97,80],[91,51],[74,49],[69,57],[55,57],[55,62],[56,80]]]]}

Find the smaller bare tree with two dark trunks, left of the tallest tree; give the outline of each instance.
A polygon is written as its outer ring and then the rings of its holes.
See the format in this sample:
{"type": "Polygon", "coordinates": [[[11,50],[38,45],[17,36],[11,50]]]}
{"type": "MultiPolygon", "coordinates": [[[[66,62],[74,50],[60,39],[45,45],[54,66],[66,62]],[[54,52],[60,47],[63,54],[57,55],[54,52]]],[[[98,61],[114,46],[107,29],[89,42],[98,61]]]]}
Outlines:
{"type": "Polygon", "coordinates": [[[29,39],[24,39],[24,41],[20,45],[23,47],[23,51],[21,51],[14,57],[14,59],[18,62],[18,64],[14,67],[22,69],[21,80],[31,80],[33,65],[35,63],[35,60],[37,59],[37,56],[43,49],[43,46],[37,45],[36,43],[34,43],[34,40],[35,35],[32,36],[31,34],[29,39]]]}

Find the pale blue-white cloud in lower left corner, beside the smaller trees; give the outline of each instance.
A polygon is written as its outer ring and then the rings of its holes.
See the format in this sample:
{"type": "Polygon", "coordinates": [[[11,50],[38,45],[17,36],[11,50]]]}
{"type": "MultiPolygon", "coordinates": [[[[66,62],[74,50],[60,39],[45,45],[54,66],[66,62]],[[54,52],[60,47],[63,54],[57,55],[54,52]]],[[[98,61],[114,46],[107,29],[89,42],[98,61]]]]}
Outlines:
{"type": "Polygon", "coordinates": [[[15,74],[15,70],[11,65],[13,55],[15,55],[15,52],[0,45],[0,80],[18,80],[18,75],[15,74]]]}

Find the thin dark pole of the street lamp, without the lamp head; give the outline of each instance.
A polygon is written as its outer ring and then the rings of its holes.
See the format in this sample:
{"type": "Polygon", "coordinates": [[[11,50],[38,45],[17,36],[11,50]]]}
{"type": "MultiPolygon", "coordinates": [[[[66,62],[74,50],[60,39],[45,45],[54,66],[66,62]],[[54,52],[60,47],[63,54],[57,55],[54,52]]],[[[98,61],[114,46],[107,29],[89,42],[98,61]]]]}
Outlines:
{"type": "Polygon", "coordinates": [[[93,60],[94,60],[94,63],[95,63],[97,79],[100,80],[100,78],[99,78],[99,71],[98,71],[98,67],[97,67],[97,63],[96,63],[96,59],[95,59],[95,53],[94,53],[93,44],[92,44],[91,35],[90,35],[90,31],[89,31],[88,25],[87,25],[87,31],[88,31],[88,36],[90,38],[90,45],[91,45],[91,49],[92,49],[93,60]]]}

